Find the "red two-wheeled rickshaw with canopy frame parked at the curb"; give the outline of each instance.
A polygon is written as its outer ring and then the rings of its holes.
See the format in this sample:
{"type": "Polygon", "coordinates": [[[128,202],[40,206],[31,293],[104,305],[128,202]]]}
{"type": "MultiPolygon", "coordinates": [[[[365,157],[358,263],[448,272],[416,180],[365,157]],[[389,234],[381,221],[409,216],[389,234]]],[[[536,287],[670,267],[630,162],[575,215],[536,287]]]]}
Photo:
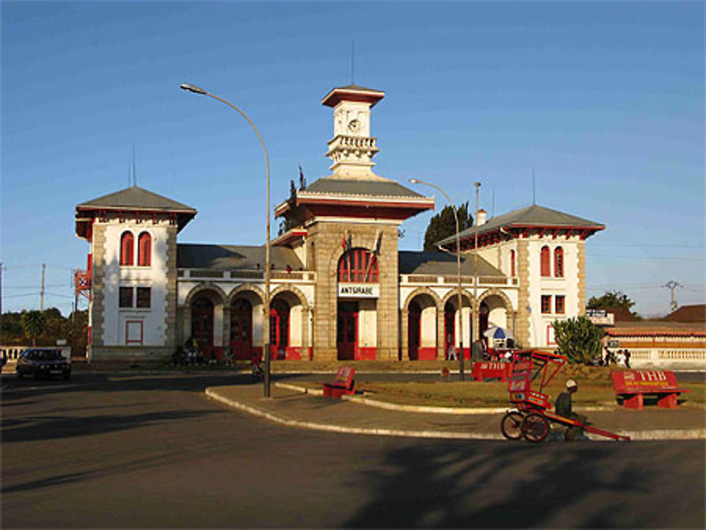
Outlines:
{"type": "Polygon", "coordinates": [[[566,427],[580,427],[613,440],[630,440],[629,436],[609,433],[580,423],[574,418],[559,416],[551,410],[549,395],[542,390],[566,363],[566,357],[549,351],[519,350],[513,352],[513,364],[508,377],[510,402],[515,409],[509,410],[501,422],[503,436],[508,440],[524,437],[530,442],[541,442],[549,434],[549,424],[558,423],[566,427]],[[539,392],[532,390],[532,383],[539,381],[539,392]]]}

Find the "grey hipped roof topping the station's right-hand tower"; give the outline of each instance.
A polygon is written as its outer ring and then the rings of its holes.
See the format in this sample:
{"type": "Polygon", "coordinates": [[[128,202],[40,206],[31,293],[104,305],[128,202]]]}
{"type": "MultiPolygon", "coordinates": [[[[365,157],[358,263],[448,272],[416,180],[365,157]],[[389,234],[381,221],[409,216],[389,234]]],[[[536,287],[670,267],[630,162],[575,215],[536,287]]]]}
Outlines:
{"type": "MultiPolygon", "coordinates": [[[[481,224],[478,227],[479,234],[485,234],[486,232],[497,230],[501,227],[576,227],[576,228],[588,228],[588,229],[604,229],[603,224],[597,222],[589,221],[588,219],[582,219],[581,217],[576,217],[575,215],[569,215],[568,213],[558,212],[557,210],[551,210],[539,205],[527,206],[520,208],[520,210],[513,210],[503,215],[498,215],[497,217],[491,217],[485,224],[481,224]]],[[[474,236],[474,227],[462,230],[460,233],[461,239],[474,236]]],[[[439,241],[440,245],[447,243],[455,243],[455,236],[447,237],[439,241]]]]}

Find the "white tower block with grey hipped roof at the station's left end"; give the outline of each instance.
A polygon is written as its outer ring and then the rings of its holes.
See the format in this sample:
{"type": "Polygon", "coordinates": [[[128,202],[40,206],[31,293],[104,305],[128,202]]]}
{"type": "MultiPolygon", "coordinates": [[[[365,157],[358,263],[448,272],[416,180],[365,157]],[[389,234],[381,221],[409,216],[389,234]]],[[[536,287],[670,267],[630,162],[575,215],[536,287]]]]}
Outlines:
{"type": "Polygon", "coordinates": [[[177,233],[193,208],[138,186],[76,206],[88,241],[88,359],[172,354],[177,324],[177,233]]]}

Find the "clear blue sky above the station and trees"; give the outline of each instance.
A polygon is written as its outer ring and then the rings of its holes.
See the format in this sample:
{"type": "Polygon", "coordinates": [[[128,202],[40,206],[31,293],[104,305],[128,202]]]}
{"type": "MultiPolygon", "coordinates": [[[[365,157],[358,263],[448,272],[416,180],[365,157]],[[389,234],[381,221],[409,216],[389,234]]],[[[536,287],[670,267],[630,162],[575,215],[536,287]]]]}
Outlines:
{"type": "MultiPolygon", "coordinates": [[[[373,109],[376,172],[438,184],[500,215],[537,203],[606,224],[588,295],[641,314],[705,289],[702,2],[12,2],[1,5],[3,310],[68,314],[88,243],[78,203],[138,184],[199,210],[181,242],[261,244],[299,164],[328,174],[321,97],[351,82],[373,109]]],[[[412,185],[409,185],[412,186],[412,185]]],[[[421,191],[421,190],[420,190],[421,191]]],[[[425,191],[424,193],[429,193],[425,191]]],[[[431,193],[429,193],[431,194],[431,193]]],[[[443,198],[437,200],[443,205],[443,198]]],[[[421,248],[431,213],[407,221],[421,248]]],[[[277,224],[273,222],[273,234],[277,224]]]]}

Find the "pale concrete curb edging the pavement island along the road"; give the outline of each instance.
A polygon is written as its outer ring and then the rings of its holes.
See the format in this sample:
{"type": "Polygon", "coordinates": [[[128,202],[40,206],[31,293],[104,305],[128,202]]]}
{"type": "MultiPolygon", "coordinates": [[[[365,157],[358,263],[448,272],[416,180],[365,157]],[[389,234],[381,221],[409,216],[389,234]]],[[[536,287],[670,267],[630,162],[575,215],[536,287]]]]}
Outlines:
{"type": "MultiPolygon", "coordinates": [[[[286,383],[284,383],[286,385],[286,383]]],[[[293,387],[291,390],[307,393],[306,389],[295,387],[295,385],[287,385],[293,387]],[[304,390],[304,392],[302,392],[304,390]]],[[[234,399],[229,399],[219,395],[216,390],[207,388],[205,394],[208,398],[220,402],[234,409],[248,412],[254,416],[280,423],[290,427],[305,428],[311,430],[322,430],[329,433],[347,433],[360,435],[378,435],[378,436],[396,436],[402,438],[436,438],[445,440],[505,440],[501,433],[450,433],[441,430],[397,430],[384,428],[363,428],[363,427],[348,427],[337,426],[329,423],[316,423],[313,421],[293,420],[284,418],[278,414],[273,414],[256,406],[246,405],[234,399]]],[[[503,412],[505,409],[503,409],[503,412]]],[[[499,430],[499,429],[498,429],[499,430]]],[[[703,440],[706,439],[706,429],[659,429],[659,430],[635,430],[623,431],[620,434],[628,435],[633,441],[654,441],[654,440],[703,440]]],[[[589,434],[589,438],[596,442],[611,442],[610,438],[589,434]]]]}

